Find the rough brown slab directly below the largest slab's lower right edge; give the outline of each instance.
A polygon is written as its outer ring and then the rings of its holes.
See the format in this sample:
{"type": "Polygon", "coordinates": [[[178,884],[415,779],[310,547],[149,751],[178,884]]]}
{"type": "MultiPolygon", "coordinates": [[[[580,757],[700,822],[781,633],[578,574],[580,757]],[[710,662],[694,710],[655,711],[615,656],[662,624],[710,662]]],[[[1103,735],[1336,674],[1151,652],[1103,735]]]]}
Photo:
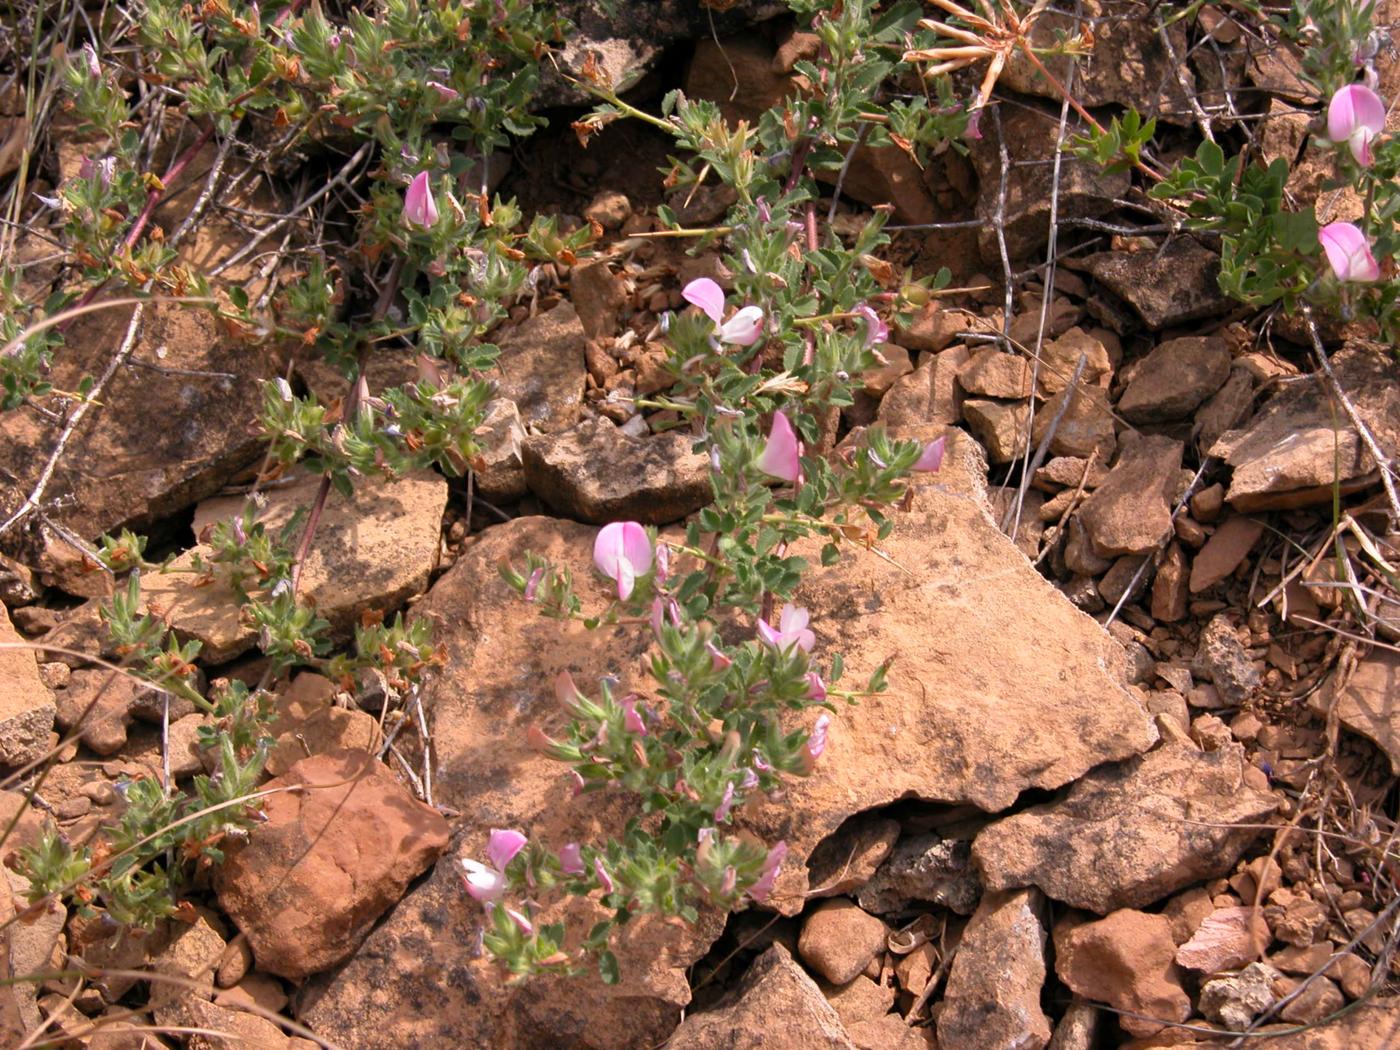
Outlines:
{"type": "Polygon", "coordinates": [[[1253,787],[1246,769],[1236,743],[1163,745],[988,826],[973,861],[988,889],[1039,886],[1100,916],[1142,907],[1226,874],[1260,834],[1250,825],[1266,822],[1278,799],[1253,787]]]}

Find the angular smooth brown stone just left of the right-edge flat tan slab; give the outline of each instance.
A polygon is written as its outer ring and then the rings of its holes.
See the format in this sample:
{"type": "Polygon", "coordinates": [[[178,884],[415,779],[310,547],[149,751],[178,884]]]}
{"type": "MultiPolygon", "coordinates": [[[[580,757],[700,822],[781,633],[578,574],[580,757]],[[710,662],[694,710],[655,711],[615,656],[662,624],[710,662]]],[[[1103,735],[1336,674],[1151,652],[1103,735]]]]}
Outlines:
{"type": "Polygon", "coordinates": [[[1182,442],[1158,434],[1124,444],[1109,476],[1079,507],[1079,521],[1102,557],[1149,554],[1172,532],[1182,442]]]}

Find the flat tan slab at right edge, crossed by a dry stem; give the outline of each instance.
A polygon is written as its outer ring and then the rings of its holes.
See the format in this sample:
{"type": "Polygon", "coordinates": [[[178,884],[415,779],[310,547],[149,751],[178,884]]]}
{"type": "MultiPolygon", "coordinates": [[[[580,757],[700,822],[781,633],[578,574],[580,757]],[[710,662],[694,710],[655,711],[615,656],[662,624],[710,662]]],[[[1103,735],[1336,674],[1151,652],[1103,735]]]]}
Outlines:
{"type": "MultiPolygon", "coordinates": [[[[1348,343],[1331,368],[1380,451],[1400,454],[1400,385],[1390,350],[1348,343]]],[[[1331,500],[1375,484],[1379,475],[1347,413],[1333,405],[1324,377],[1289,382],[1240,430],[1228,430],[1210,449],[1232,468],[1226,497],[1236,510],[1287,510],[1331,500]],[[1337,465],[1341,476],[1337,477],[1337,465]]]]}

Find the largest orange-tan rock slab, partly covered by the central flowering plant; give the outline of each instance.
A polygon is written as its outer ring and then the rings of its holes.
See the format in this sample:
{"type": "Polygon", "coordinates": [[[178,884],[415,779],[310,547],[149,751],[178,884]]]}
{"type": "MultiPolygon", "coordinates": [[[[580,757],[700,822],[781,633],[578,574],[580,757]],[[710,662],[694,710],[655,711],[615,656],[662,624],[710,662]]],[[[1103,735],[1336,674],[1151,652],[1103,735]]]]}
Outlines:
{"type": "MultiPolygon", "coordinates": [[[[1120,678],[1117,643],[987,517],[979,462],[967,435],[949,441],[944,472],[897,517],[886,545],[902,567],[851,554],[815,571],[799,598],[812,609],[818,651],[844,651],[850,680],[897,659],[888,693],[837,715],[816,773],[794,781],[781,806],[745,816],[767,841],[788,841],[773,897],[788,914],[802,909],[808,855],[855,812],[903,797],[1001,809],[1026,787],[1060,787],[1155,741],[1120,678]],[[1047,661],[1063,673],[1047,679],[1047,661]]],[[[617,833],[631,815],[620,792],[573,798],[564,766],[531,750],[526,731],[564,724],[552,685],[563,669],[581,686],[609,673],[633,679],[648,633],[589,633],[540,617],[496,571],[535,550],[570,568],[584,606],[601,609],[608,592],[591,563],[595,535],[568,521],[517,518],[483,533],[419,605],[440,624],[452,668],[424,701],[434,711],[435,795],[463,813],[463,855],[480,857],[491,827],[519,827],[557,847],[617,833]]],[[[805,553],[816,561],[815,549],[805,553]]],[[[582,928],[602,916],[591,900],[571,907],[582,928]]],[[[685,969],[722,918],[704,913],[692,930],[629,924],[613,987],[585,974],[508,988],[497,969],[463,952],[482,923],[449,858],[440,861],[340,970],[312,984],[304,1021],[347,1050],[655,1044],[689,1001],[685,969]],[[372,1030],[361,1021],[367,1009],[381,1018],[372,1030]]]]}

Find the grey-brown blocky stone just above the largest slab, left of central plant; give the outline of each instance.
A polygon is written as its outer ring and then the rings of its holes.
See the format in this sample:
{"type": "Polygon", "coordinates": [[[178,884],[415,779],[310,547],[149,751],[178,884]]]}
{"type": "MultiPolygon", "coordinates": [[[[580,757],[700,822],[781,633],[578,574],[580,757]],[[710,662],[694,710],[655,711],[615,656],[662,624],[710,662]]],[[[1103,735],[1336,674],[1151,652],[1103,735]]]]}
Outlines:
{"type": "Polygon", "coordinates": [[[631,437],[605,419],[567,434],[526,438],[525,480],[554,510],[580,521],[664,525],[713,498],[710,461],[679,433],[631,437]]]}

